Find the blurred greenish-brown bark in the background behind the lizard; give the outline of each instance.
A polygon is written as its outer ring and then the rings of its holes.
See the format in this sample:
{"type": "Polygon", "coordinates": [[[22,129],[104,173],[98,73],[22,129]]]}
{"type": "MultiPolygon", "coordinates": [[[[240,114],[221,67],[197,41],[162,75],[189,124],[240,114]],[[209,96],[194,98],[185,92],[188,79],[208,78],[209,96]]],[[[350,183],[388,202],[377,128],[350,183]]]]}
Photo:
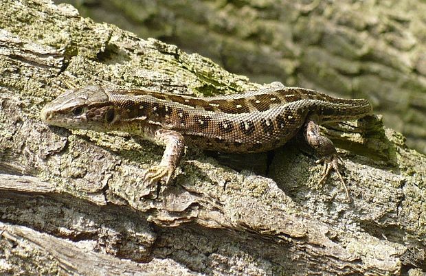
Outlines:
{"type": "Polygon", "coordinates": [[[259,83],[367,98],[426,153],[425,1],[57,1],[259,83]]]}

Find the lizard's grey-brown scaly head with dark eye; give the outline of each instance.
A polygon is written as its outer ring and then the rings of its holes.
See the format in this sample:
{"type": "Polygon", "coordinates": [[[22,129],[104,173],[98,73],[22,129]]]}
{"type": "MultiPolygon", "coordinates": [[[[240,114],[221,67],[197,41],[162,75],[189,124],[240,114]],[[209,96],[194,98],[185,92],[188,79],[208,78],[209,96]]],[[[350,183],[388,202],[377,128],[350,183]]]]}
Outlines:
{"type": "Polygon", "coordinates": [[[71,129],[114,130],[115,109],[109,96],[98,85],[71,89],[41,110],[46,124],[71,129]]]}

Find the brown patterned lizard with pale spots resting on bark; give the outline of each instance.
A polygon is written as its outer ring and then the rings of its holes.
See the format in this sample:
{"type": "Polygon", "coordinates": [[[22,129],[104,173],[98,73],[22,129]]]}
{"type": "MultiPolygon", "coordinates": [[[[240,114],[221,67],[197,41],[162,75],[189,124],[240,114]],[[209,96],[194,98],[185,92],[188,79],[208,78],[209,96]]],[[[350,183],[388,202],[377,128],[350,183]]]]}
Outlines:
{"type": "Polygon", "coordinates": [[[144,181],[169,183],[184,147],[240,154],[278,148],[300,131],[322,157],[323,183],[341,158],[319,125],[372,115],[364,99],[343,99],[273,82],[240,94],[194,97],[148,89],[112,89],[89,85],[65,91],[41,110],[49,125],[100,132],[122,131],[165,146],[159,165],[144,173],[144,181]]]}

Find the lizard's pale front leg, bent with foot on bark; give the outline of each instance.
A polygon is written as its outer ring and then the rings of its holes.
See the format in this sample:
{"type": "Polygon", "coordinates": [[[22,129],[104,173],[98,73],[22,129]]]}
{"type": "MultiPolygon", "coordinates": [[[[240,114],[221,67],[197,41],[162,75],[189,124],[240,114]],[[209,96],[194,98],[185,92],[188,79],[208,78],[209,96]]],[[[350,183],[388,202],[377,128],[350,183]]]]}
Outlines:
{"type": "Polygon", "coordinates": [[[159,165],[154,165],[146,171],[144,181],[151,185],[163,179],[168,184],[183,156],[184,139],[180,133],[165,129],[155,131],[154,138],[157,143],[165,145],[166,149],[159,165]]]}

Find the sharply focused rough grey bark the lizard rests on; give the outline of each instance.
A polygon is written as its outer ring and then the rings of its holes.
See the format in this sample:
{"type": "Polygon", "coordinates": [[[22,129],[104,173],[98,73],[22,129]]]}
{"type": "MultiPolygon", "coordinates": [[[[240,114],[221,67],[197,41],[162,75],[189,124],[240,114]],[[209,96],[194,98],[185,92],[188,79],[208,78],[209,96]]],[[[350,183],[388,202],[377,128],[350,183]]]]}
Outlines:
{"type": "Polygon", "coordinates": [[[125,133],[48,127],[58,87],[193,95],[259,87],[199,54],[50,1],[0,2],[0,274],[421,275],[426,157],[381,117],[324,128],[337,176],[293,141],[268,176],[188,149],[172,185],[142,182],[163,148],[125,133]]]}

